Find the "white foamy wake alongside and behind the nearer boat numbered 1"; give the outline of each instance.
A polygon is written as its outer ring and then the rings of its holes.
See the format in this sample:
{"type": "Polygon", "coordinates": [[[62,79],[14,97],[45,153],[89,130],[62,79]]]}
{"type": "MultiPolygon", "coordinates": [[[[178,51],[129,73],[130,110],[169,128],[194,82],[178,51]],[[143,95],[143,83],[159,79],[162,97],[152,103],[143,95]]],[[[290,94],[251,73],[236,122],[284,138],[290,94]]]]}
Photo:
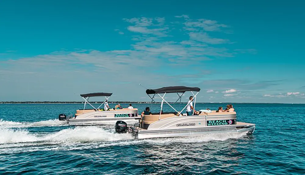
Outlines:
{"type": "Polygon", "coordinates": [[[77,126],[53,133],[32,133],[25,128],[0,127],[0,154],[32,151],[84,150],[127,145],[171,145],[224,141],[246,136],[246,133],[218,133],[198,137],[133,139],[130,134],[117,134],[100,126],[77,126]]]}

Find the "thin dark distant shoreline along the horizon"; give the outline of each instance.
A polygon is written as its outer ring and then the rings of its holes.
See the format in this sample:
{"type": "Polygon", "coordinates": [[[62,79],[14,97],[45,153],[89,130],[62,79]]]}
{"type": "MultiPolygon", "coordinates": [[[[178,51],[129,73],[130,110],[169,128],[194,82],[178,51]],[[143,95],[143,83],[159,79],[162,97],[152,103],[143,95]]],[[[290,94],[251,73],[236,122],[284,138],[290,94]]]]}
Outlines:
{"type": "MultiPolygon", "coordinates": [[[[103,103],[103,101],[91,101],[91,104],[101,104],[103,103]]],[[[151,104],[150,101],[112,101],[112,102],[108,102],[109,104],[118,104],[118,103],[122,103],[122,104],[151,104]]],[[[154,102],[155,104],[161,104],[161,102],[154,102]]],[[[168,102],[170,104],[173,104],[174,102],[168,102]]],[[[183,103],[183,102],[181,102],[183,103]]],[[[185,102],[186,103],[186,102],[185,102]]],[[[198,104],[304,104],[304,103],[233,103],[233,102],[197,102],[198,104]]],[[[0,102],[0,104],[84,104],[84,102],[82,101],[2,101],[0,102]]],[[[178,104],[178,102],[177,102],[178,104]]]]}

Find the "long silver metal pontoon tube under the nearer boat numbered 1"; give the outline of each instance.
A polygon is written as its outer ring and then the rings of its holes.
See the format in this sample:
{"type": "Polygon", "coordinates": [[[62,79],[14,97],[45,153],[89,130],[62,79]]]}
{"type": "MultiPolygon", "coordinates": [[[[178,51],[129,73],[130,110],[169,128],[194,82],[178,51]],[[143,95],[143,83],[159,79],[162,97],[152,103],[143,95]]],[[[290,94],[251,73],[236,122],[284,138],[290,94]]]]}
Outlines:
{"type": "Polygon", "coordinates": [[[238,123],[227,126],[204,126],[196,128],[179,128],[179,129],[151,129],[135,131],[135,138],[159,138],[159,137],[189,137],[210,133],[247,133],[252,134],[255,130],[255,124],[238,123]]]}

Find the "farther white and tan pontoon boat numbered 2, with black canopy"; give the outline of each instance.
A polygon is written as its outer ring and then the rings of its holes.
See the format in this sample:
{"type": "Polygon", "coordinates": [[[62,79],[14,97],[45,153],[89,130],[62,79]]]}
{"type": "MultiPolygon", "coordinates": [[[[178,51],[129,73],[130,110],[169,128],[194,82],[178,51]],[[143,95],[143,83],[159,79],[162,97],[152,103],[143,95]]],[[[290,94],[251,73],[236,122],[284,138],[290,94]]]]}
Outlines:
{"type": "Polygon", "coordinates": [[[118,120],[122,120],[128,123],[138,122],[140,116],[138,116],[138,109],[109,109],[104,111],[99,108],[108,101],[109,97],[112,93],[88,93],[81,94],[81,97],[85,100],[84,109],[76,110],[76,114],[74,116],[66,117],[65,114],[59,115],[59,120],[66,120],[69,124],[113,124],[113,122],[117,122],[118,120]],[[90,97],[105,97],[106,100],[99,105],[98,108],[95,108],[90,102],[90,97]],[[85,109],[86,104],[89,104],[93,109],[85,109]]]}

